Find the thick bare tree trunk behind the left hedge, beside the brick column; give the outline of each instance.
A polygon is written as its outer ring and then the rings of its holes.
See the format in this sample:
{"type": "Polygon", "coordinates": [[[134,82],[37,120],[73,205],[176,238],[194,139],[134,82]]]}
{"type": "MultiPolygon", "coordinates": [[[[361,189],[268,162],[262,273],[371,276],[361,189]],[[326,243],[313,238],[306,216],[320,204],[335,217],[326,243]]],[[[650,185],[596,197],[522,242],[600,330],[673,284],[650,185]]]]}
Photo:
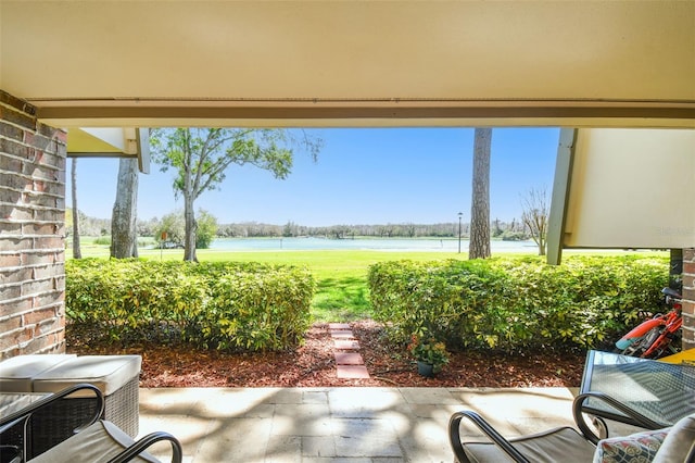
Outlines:
{"type": "Polygon", "coordinates": [[[136,229],[138,210],[138,160],[121,159],[116,201],[111,215],[111,256],[138,256],[136,229]]]}

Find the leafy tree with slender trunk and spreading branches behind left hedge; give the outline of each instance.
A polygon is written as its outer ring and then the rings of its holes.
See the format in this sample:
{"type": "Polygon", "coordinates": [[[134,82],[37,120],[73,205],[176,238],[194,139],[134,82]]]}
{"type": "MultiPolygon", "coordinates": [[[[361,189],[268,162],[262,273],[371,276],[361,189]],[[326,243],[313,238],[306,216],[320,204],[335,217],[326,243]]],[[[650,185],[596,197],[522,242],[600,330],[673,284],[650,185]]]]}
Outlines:
{"type": "Polygon", "coordinates": [[[231,164],[254,165],[286,178],[292,168],[293,147],[307,149],[314,160],[321,140],[301,132],[269,128],[164,128],[150,134],[152,158],[162,171],[174,168],[174,191],[184,197],[186,223],[184,260],[195,255],[194,202],[206,190],[218,188],[231,164]]]}

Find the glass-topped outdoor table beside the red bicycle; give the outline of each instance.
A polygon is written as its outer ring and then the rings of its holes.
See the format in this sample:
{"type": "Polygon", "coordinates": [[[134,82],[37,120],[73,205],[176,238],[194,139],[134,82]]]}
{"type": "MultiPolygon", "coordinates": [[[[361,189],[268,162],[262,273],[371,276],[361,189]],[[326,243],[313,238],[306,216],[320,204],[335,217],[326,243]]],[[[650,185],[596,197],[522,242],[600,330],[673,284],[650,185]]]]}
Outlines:
{"type": "MultiPolygon", "coordinates": [[[[589,351],[580,393],[604,392],[664,427],[695,413],[695,366],[589,351]]],[[[639,425],[609,405],[587,399],[582,411],[639,425]]]]}

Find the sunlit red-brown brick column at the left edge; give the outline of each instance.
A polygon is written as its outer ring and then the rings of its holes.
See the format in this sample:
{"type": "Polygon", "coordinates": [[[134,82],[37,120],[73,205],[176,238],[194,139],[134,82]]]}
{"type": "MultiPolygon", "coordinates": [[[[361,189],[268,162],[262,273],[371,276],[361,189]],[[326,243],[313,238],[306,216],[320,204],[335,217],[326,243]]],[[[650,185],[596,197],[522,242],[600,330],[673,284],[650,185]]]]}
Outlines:
{"type": "Polygon", "coordinates": [[[65,351],[67,134],[0,90],[0,360],[65,351]]]}

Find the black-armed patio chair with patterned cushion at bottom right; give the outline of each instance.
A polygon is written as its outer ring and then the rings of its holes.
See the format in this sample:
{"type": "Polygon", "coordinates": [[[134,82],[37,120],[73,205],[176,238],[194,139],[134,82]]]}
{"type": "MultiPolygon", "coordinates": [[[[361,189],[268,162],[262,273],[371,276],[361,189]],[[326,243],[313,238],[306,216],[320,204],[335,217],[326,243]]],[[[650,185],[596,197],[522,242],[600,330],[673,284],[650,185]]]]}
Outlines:
{"type": "Polygon", "coordinates": [[[572,415],[580,431],[565,426],[506,439],[479,414],[462,411],[454,413],[448,422],[448,438],[455,461],[459,463],[616,462],[633,461],[627,455],[635,452],[643,458],[639,460],[642,462],[695,462],[695,414],[682,418],[671,428],[664,428],[605,393],[586,392],[574,399],[572,415]],[[647,431],[601,439],[582,412],[582,403],[589,398],[608,403],[647,431]],[[489,440],[462,442],[464,418],[472,422],[489,440]]]}

